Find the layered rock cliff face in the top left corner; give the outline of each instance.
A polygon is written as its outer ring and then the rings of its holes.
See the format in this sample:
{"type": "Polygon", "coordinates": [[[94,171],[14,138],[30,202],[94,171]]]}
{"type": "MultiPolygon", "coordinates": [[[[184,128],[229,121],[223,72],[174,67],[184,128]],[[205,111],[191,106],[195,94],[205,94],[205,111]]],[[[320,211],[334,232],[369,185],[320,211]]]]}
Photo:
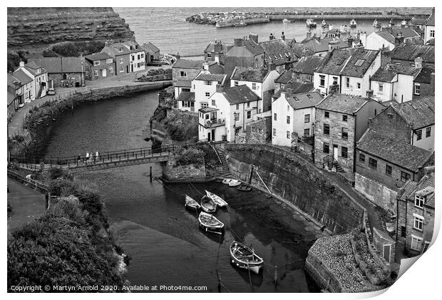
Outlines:
{"type": "Polygon", "coordinates": [[[8,47],[88,41],[128,41],[129,25],[111,7],[9,7],[8,47]]]}

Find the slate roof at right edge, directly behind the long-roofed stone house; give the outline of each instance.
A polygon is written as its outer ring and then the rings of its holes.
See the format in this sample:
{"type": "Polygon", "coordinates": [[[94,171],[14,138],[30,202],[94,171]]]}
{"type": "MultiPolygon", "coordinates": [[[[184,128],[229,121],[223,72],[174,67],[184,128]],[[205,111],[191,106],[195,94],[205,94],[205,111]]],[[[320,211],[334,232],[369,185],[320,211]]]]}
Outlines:
{"type": "Polygon", "coordinates": [[[404,103],[391,105],[413,129],[424,128],[434,124],[434,96],[415,98],[404,103]]]}

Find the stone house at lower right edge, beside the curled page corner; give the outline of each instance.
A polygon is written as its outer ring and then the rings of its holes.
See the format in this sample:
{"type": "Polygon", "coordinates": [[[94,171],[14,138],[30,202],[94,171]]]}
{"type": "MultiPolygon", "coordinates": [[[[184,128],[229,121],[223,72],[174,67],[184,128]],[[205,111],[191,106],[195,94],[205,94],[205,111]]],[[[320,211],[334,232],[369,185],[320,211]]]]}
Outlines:
{"type": "Polygon", "coordinates": [[[396,240],[406,254],[422,254],[433,239],[435,218],[434,167],[426,167],[418,182],[408,180],[399,190],[396,210],[396,240]]]}

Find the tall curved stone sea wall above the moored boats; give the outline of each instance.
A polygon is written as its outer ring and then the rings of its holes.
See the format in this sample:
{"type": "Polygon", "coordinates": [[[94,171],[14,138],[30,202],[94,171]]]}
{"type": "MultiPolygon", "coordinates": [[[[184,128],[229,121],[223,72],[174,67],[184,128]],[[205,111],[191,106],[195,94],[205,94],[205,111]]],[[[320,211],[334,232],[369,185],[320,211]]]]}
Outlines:
{"type": "Polygon", "coordinates": [[[330,232],[362,227],[363,208],[304,158],[270,145],[227,144],[225,149],[232,175],[268,188],[330,232]]]}

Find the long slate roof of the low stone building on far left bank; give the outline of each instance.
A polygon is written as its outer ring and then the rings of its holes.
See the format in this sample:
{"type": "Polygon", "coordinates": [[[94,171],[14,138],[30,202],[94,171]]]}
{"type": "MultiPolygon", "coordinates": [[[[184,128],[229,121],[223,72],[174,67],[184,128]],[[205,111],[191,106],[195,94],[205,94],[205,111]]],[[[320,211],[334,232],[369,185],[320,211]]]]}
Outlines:
{"type": "MultiPolygon", "coordinates": [[[[29,61],[36,62],[48,73],[81,73],[81,58],[75,56],[29,58],[29,61]]],[[[86,72],[84,68],[83,72],[86,72]]]]}

